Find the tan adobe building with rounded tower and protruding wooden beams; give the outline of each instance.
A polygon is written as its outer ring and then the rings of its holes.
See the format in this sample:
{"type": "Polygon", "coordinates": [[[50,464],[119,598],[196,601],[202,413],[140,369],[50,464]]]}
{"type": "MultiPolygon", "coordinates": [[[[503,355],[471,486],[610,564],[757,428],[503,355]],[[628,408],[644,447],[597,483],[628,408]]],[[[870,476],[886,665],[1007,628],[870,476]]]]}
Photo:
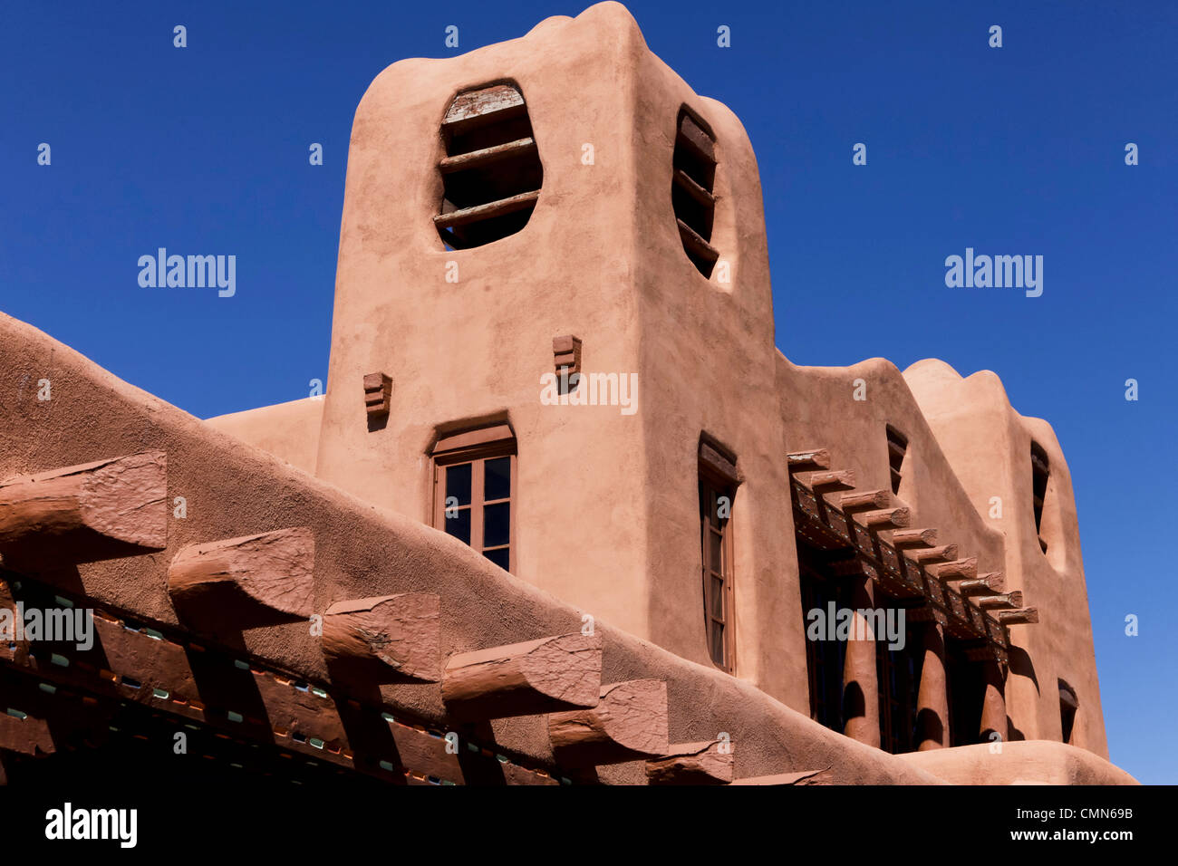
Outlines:
{"type": "Polygon", "coordinates": [[[343,784],[1132,782],[1051,427],[773,323],[748,135],[624,7],[393,64],[325,396],[200,421],[0,322],[2,591],[97,633],[0,644],[9,778],[114,727],[343,784]]]}

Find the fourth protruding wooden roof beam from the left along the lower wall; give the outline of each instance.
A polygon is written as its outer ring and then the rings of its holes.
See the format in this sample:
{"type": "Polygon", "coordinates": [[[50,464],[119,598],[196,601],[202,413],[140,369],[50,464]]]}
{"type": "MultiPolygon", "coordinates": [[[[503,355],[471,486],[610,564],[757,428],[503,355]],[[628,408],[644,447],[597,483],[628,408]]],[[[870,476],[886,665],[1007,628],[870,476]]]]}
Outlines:
{"type": "Polygon", "coordinates": [[[450,656],[442,700],[458,719],[505,719],[597,703],[601,635],[573,634],[450,656]]]}

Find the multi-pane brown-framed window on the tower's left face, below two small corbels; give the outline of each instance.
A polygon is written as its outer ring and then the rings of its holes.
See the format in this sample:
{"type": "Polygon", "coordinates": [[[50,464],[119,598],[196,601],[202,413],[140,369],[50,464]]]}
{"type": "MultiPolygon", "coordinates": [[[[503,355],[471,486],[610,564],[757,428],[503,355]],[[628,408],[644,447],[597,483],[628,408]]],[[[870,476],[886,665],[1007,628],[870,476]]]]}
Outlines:
{"type": "Polygon", "coordinates": [[[516,441],[507,424],[446,436],[434,447],[434,525],[499,568],[515,566],[516,441]]]}

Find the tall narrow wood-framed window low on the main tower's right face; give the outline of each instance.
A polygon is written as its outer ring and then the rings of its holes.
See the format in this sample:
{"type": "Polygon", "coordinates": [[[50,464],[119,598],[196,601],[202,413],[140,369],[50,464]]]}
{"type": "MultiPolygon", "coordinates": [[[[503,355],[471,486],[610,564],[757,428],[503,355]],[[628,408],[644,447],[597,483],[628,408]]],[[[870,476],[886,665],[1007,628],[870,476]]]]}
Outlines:
{"type": "Polygon", "coordinates": [[[703,622],[713,663],[733,673],[733,537],[736,461],[700,443],[700,530],[703,557],[703,622]]]}

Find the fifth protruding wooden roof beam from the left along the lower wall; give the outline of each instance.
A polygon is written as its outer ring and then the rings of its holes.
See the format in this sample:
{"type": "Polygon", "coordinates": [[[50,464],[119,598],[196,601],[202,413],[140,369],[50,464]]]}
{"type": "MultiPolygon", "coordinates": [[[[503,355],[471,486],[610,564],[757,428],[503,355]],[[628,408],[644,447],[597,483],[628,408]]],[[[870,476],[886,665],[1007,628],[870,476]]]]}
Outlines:
{"type": "Polygon", "coordinates": [[[601,688],[593,709],[554,713],[548,736],[557,763],[589,767],[667,754],[667,683],[629,680],[601,688]]]}

